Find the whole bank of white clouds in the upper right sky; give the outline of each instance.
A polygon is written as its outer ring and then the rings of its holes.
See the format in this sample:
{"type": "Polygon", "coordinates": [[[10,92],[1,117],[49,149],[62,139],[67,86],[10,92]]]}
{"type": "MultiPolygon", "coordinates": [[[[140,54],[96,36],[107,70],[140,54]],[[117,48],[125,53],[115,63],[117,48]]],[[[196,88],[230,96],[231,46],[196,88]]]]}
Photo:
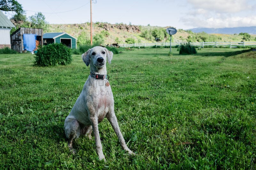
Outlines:
{"type": "Polygon", "coordinates": [[[256,26],[255,0],[186,0],[192,10],[180,19],[193,27],[256,26]]]}

